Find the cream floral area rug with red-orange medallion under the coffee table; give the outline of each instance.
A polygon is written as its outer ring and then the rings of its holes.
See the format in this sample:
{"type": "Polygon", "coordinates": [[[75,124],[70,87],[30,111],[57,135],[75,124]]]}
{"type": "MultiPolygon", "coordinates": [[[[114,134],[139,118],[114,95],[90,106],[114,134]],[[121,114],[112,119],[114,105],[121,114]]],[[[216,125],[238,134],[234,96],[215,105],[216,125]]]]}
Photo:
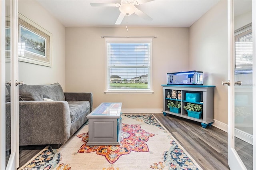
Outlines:
{"type": "Polygon", "coordinates": [[[47,146],[19,170],[198,170],[154,115],[122,115],[121,144],[86,146],[88,124],[59,149],[47,146]]]}

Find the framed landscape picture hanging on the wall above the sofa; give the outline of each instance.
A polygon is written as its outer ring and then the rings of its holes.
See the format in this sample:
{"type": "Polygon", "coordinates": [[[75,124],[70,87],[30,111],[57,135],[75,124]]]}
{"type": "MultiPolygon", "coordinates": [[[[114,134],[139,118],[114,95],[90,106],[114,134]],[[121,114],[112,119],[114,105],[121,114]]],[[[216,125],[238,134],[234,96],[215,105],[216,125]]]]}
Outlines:
{"type": "Polygon", "coordinates": [[[52,67],[52,34],[19,14],[19,61],[52,67]]]}

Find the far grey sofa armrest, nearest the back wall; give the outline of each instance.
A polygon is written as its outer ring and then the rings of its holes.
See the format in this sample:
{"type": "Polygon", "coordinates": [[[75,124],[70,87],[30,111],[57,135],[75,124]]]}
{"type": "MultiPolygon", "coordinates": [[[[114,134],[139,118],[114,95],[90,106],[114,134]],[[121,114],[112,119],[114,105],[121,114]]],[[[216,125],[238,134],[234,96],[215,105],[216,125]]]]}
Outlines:
{"type": "Polygon", "coordinates": [[[64,92],[66,101],[89,101],[90,112],[92,112],[92,93],[70,93],[64,92]]]}

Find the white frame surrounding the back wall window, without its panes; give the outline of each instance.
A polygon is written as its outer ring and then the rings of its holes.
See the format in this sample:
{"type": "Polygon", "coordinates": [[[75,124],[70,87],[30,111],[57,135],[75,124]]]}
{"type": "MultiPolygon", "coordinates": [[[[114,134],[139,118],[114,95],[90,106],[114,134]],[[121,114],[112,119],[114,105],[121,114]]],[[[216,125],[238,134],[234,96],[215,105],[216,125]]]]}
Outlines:
{"type": "Polygon", "coordinates": [[[152,94],[153,93],[153,74],[152,74],[152,38],[106,38],[105,40],[105,93],[106,94],[152,94]],[[150,73],[149,75],[149,82],[150,89],[148,90],[130,90],[130,89],[123,89],[123,90],[111,90],[108,89],[108,82],[109,77],[108,75],[109,66],[108,66],[108,43],[150,43],[150,73]]]}

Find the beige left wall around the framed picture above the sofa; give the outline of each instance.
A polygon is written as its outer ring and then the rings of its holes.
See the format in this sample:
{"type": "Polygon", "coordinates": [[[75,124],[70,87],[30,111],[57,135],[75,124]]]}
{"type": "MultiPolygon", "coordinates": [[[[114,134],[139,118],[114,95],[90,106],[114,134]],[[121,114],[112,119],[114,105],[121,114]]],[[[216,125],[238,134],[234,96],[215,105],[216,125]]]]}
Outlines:
{"type": "Polygon", "coordinates": [[[19,0],[18,11],[52,33],[52,67],[19,62],[19,80],[25,84],[60,83],[65,89],[65,27],[37,1],[19,0]]]}

